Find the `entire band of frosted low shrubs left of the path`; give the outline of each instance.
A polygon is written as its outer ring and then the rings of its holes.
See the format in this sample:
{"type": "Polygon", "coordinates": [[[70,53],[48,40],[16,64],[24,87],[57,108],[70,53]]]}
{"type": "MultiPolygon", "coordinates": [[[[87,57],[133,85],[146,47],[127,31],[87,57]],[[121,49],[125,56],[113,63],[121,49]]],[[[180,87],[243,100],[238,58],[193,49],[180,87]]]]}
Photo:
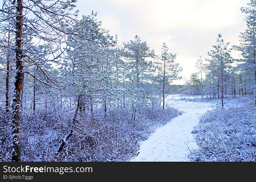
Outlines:
{"type": "MultiPolygon", "coordinates": [[[[79,111],[73,134],[57,153],[61,138],[72,128],[74,111],[37,110],[21,112],[21,161],[127,161],[138,151],[139,141],[157,127],[181,114],[177,109],[144,107],[136,115],[132,109],[116,109],[95,115],[79,111]],[[103,114],[102,114],[103,113],[103,114]]],[[[0,160],[10,161],[11,113],[0,112],[0,160]]]]}

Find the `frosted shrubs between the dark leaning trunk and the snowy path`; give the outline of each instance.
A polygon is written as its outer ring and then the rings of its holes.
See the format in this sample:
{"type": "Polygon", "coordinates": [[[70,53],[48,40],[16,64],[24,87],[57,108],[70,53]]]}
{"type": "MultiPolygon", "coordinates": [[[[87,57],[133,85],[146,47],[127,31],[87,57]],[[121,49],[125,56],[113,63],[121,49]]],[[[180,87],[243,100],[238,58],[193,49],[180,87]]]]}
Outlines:
{"type": "Polygon", "coordinates": [[[63,152],[61,161],[127,161],[136,155],[138,141],[147,139],[156,127],[179,114],[173,108],[148,108],[135,117],[131,110],[115,110],[106,117],[81,116],[71,139],[79,145],[69,142],[70,152],[63,152]]]}

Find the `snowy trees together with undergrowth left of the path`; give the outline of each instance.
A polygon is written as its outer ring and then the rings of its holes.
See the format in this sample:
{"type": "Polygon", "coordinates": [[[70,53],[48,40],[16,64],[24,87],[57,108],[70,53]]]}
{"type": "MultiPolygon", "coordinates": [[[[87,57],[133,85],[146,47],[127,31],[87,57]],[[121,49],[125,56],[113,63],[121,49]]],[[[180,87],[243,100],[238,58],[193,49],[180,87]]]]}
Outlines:
{"type": "Polygon", "coordinates": [[[74,0],[2,8],[2,161],[124,161],[179,114],[160,109],[181,78],[165,43],[161,55],[137,35],[119,44],[96,13],[78,20],[74,0]]]}

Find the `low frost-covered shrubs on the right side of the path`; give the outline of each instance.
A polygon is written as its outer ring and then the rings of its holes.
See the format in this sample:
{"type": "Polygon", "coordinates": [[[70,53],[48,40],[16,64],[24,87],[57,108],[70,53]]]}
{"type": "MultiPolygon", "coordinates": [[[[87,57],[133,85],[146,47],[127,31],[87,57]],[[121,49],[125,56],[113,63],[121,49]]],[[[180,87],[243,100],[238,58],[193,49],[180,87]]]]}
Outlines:
{"type": "Polygon", "coordinates": [[[191,161],[255,161],[256,115],[249,106],[214,109],[195,127],[191,161]]]}

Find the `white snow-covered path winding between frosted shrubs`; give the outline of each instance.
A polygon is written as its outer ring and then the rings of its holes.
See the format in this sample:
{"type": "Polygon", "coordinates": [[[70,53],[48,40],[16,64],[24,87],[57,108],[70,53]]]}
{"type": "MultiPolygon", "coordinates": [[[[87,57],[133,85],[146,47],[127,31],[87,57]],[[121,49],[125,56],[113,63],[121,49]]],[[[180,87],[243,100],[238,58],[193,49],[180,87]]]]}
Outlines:
{"type": "Polygon", "coordinates": [[[157,128],[149,138],[142,142],[139,154],[130,161],[189,161],[188,147],[197,147],[191,131],[198,124],[198,117],[215,105],[209,102],[190,102],[167,97],[170,107],[184,111],[184,113],[157,128]]]}

